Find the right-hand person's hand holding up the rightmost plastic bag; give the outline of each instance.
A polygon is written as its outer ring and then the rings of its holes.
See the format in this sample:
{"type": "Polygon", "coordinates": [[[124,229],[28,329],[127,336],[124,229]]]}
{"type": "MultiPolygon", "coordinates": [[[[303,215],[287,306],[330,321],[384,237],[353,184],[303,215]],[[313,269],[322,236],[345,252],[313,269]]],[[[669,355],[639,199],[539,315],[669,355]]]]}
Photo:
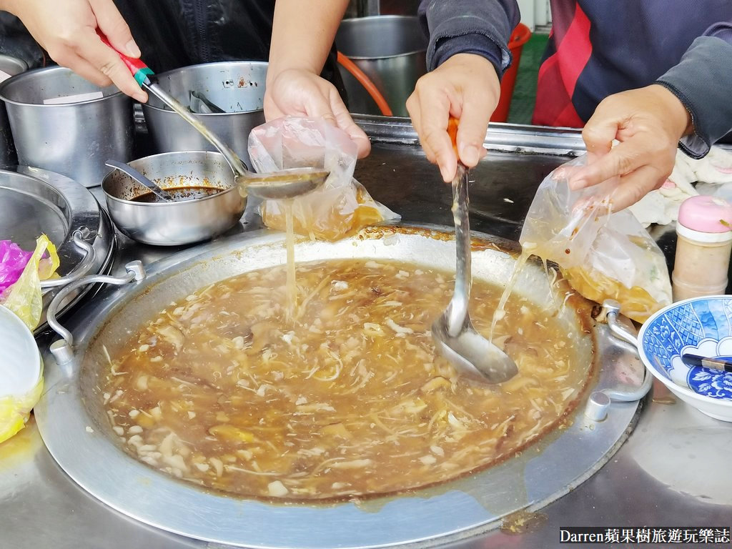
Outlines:
{"type": "Polygon", "coordinates": [[[661,187],[673,170],[679,139],[690,132],[689,113],[663,86],[610,95],[582,131],[590,161],[572,174],[569,187],[578,190],[619,176],[611,202],[613,210],[624,209],[661,187]],[[613,147],[613,140],[620,143],[613,147]]]}

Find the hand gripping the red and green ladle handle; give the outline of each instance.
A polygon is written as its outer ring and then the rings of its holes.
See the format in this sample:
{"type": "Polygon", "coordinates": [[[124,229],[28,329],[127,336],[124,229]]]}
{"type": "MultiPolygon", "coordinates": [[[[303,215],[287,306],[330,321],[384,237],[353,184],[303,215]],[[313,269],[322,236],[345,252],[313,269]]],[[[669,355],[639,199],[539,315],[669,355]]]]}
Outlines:
{"type": "Polygon", "coordinates": [[[140,48],[112,0],[5,0],[5,10],[17,15],[34,39],[56,63],[70,68],[97,86],[114,83],[125,94],[145,102],[119,56],[97,36],[97,27],[127,56],[138,58],[140,48]],[[53,4],[53,5],[51,5],[53,4]]]}

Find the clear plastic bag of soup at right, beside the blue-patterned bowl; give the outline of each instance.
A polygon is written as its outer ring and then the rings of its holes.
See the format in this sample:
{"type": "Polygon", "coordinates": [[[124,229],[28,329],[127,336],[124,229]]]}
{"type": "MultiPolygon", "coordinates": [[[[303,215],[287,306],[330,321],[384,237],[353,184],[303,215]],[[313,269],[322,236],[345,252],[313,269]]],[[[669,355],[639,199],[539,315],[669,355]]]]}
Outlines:
{"type": "Polygon", "coordinates": [[[521,231],[525,253],[559,264],[588,299],[616,299],[621,312],[643,322],[671,303],[671,282],[660,248],[628,210],[610,213],[617,178],[569,190],[586,155],[561,165],[539,185],[521,231]]]}

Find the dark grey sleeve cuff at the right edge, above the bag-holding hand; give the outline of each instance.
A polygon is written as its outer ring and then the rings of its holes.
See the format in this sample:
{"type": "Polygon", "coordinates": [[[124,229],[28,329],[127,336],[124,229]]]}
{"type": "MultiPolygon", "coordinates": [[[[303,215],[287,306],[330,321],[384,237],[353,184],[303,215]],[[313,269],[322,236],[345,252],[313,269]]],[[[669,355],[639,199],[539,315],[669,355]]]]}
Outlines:
{"type": "Polygon", "coordinates": [[[694,40],[681,62],[657,80],[691,115],[694,133],[679,147],[692,158],[706,156],[732,130],[732,26],[719,23],[710,30],[713,36],[694,40]]]}

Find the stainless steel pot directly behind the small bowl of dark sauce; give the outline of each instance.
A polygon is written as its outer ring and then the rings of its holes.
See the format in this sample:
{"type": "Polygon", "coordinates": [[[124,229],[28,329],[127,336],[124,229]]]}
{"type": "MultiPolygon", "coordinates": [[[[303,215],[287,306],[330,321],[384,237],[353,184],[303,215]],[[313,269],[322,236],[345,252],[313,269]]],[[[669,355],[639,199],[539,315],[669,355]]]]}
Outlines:
{"type": "MultiPolygon", "coordinates": [[[[198,91],[225,113],[196,114],[206,127],[228,143],[251,167],[247,141],[253,127],[264,124],[264,61],[221,61],[182,67],[157,75],[157,83],[190,105],[190,92],[198,91]]],[[[156,97],[143,105],[148,131],[158,152],[215,151],[211,143],[156,97]]]]}

